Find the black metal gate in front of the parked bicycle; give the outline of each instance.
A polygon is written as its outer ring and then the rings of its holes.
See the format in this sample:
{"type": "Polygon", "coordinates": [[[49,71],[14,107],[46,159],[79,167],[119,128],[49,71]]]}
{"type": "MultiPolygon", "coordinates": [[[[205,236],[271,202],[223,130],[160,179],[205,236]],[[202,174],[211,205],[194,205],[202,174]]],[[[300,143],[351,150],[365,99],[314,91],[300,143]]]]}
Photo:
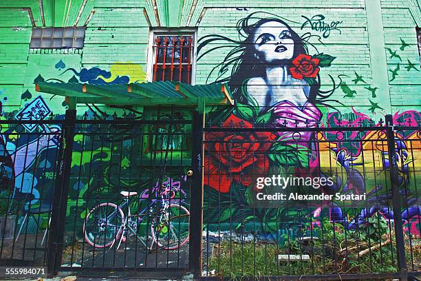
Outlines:
{"type": "Polygon", "coordinates": [[[192,168],[193,116],[182,115],[171,109],[150,121],[72,121],[67,114],[52,268],[154,276],[188,271],[198,173],[192,168]]]}

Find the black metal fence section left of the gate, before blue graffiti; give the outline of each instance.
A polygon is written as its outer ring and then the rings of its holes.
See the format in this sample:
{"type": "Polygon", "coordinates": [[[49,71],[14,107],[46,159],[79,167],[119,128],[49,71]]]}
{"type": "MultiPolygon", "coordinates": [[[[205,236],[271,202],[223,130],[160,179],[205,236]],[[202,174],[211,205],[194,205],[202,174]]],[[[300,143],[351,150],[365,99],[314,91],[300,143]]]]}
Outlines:
{"type": "Polygon", "coordinates": [[[47,267],[63,121],[0,126],[0,264],[47,267]]]}

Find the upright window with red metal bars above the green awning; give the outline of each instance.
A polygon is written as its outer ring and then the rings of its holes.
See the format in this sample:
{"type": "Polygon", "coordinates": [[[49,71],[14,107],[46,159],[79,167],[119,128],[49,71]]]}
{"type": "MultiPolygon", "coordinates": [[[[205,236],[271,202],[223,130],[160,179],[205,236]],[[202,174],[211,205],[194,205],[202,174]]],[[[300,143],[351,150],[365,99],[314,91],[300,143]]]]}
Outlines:
{"type": "Polygon", "coordinates": [[[153,44],[153,81],[191,84],[193,34],[155,34],[153,44]]]}

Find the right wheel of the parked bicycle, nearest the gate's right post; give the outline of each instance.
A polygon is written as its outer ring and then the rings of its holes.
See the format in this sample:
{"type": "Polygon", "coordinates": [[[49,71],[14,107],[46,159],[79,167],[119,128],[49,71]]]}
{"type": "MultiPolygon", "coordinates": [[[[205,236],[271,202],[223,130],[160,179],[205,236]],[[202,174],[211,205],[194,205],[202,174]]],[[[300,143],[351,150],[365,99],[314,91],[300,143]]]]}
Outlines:
{"type": "Polygon", "coordinates": [[[165,216],[156,217],[151,225],[153,242],[162,249],[175,250],[188,241],[190,213],[181,205],[170,205],[165,216]]]}

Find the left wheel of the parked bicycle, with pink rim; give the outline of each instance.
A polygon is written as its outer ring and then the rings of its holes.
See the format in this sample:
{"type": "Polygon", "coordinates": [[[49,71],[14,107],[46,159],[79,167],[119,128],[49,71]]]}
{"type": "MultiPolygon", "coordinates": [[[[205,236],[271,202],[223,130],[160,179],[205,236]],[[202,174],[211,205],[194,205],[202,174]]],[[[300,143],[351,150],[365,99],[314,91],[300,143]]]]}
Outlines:
{"type": "Polygon", "coordinates": [[[114,203],[101,203],[91,209],[83,225],[85,240],[93,247],[106,248],[122,233],[125,214],[114,203]]]}

